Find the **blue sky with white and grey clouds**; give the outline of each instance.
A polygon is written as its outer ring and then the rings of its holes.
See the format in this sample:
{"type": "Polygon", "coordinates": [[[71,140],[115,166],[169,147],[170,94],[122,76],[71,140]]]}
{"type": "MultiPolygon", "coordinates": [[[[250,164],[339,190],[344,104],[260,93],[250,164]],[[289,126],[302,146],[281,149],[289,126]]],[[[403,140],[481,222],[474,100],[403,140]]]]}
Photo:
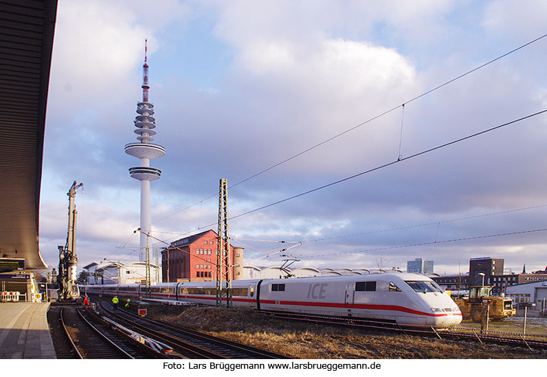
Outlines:
{"type": "Polygon", "coordinates": [[[546,114],[416,154],[547,109],[547,37],[421,96],[544,36],[546,17],[539,0],[60,0],[41,254],[56,267],[77,180],[79,266],[137,260],[139,160],[124,145],[137,141],[148,39],[167,150],[151,162],[157,239],[216,229],[225,177],[249,265],[544,269],[546,114]]]}

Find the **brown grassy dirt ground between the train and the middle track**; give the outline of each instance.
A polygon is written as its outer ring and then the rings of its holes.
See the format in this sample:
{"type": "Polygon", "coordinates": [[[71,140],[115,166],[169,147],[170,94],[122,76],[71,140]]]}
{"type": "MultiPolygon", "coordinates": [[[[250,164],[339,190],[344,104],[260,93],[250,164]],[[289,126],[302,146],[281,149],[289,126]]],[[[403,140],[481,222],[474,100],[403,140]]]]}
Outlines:
{"type": "Polygon", "coordinates": [[[147,305],[147,308],[149,316],[291,358],[547,358],[546,351],[537,349],[441,341],[438,338],[272,319],[252,310],[176,305],[147,305]]]}

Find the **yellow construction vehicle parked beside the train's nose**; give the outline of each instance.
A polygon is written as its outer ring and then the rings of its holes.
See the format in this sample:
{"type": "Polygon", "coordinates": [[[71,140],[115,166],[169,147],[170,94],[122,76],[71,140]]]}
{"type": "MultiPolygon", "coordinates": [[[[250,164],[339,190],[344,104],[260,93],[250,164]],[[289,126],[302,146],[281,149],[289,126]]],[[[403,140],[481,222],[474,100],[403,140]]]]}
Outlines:
{"type": "Polygon", "coordinates": [[[506,316],[514,316],[513,300],[505,297],[492,296],[492,286],[469,287],[469,297],[456,299],[463,319],[481,322],[485,315],[493,321],[500,321],[506,316]]]}

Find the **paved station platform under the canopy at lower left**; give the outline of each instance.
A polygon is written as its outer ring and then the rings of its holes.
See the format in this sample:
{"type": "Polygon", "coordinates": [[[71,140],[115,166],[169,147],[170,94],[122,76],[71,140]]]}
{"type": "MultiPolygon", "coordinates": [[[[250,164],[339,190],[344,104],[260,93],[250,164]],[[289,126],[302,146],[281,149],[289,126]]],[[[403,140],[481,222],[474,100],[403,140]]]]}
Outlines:
{"type": "Polygon", "coordinates": [[[0,359],[56,358],[48,309],[49,303],[0,303],[0,359]]]}

